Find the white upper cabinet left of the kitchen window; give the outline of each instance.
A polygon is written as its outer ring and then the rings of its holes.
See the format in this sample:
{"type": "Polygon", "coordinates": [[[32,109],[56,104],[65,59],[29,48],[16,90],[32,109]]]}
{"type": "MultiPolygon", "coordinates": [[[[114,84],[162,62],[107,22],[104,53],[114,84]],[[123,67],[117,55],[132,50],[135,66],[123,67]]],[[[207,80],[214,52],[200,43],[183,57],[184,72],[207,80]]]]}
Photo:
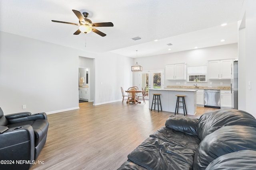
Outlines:
{"type": "Polygon", "coordinates": [[[165,78],[166,80],[186,80],[185,63],[166,65],[165,78]]]}

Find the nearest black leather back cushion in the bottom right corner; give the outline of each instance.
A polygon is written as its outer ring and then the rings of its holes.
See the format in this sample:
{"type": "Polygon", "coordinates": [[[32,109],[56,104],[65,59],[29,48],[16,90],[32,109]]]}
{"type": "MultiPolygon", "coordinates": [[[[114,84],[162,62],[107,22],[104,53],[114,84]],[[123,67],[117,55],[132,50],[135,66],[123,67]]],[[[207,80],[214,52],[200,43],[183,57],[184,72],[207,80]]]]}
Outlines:
{"type": "Polygon", "coordinates": [[[212,161],[205,170],[256,170],[256,151],[241,150],[224,154],[212,161]]]}

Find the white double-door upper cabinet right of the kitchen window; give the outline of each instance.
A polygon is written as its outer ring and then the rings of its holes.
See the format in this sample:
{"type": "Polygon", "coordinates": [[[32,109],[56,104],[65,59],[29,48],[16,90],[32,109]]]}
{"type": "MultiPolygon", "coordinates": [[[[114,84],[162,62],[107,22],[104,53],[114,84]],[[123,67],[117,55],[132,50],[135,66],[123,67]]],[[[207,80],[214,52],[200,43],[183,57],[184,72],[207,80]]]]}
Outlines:
{"type": "Polygon", "coordinates": [[[209,79],[231,79],[232,59],[209,61],[209,79]]]}

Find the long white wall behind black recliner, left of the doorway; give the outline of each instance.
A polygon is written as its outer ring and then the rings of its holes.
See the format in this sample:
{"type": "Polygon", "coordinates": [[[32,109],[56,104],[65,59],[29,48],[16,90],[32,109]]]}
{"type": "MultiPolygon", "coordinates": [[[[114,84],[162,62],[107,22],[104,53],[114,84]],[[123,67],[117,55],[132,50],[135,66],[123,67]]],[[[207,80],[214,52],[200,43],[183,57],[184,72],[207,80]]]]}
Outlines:
{"type": "Polygon", "coordinates": [[[74,50],[4,32],[0,37],[0,107],[5,114],[78,107],[74,50]]]}

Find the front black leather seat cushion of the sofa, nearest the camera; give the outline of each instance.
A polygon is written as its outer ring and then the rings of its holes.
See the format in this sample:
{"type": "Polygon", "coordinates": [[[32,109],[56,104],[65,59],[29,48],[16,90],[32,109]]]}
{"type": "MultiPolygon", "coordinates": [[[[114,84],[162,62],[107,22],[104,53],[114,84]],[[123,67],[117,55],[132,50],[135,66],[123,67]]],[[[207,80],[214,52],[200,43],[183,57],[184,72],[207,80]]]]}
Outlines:
{"type": "Polygon", "coordinates": [[[128,159],[149,170],[192,170],[195,150],[149,137],[128,159]]]}

